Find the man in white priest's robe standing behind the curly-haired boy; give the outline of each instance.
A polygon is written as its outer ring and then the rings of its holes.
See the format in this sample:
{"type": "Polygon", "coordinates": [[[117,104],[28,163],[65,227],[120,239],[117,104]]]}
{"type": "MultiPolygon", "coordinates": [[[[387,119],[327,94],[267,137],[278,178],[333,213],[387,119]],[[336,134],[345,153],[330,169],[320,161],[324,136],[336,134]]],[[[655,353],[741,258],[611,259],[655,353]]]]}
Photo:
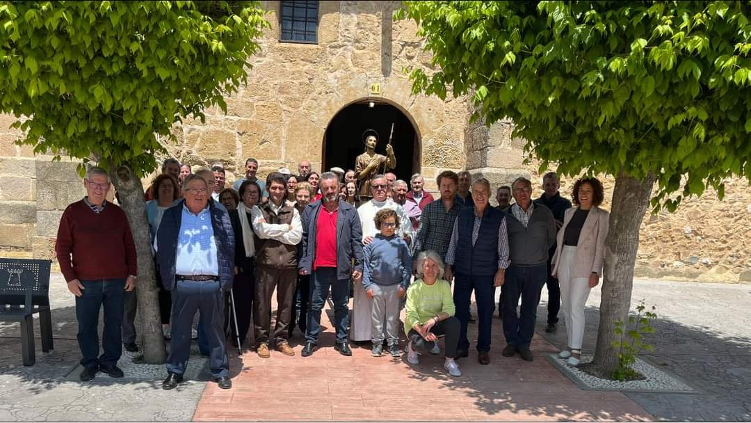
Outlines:
{"type": "MultiPolygon", "coordinates": [[[[404,208],[388,198],[388,178],[385,175],[375,175],[370,180],[370,192],[372,200],[367,201],[357,208],[357,215],[360,216],[360,226],[363,228],[363,245],[372,242],[375,234],[378,234],[380,228],[375,228],[375,213],[379,210],[391,209],[397,212],[400,222],[409,222],[409,216],[404,208]]],[[[397,234],[406,241],[407,245],[412,248],[412,242],[415,240],[415,228],[405,223],[400,225],[397,234]]],[[[371,315],[372,301],[363,289],[360,281],[354,283],[354,309],[352,313],[352,325],[349,331],[349,337],[355,342],[364,342],[371,340],[371,315]]]]}

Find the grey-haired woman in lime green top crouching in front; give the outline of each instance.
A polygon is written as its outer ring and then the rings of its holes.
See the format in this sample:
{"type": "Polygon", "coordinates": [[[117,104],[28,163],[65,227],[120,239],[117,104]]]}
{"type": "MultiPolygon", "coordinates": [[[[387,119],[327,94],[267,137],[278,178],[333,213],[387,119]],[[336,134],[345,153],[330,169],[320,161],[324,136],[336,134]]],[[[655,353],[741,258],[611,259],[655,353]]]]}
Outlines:
{"type": "Polygon", "coordinates": [[[459,320],[454,317],[454,298],[451,286],[443,277],[444,264],[435,251],[418,255],[418,280],[407,291],[404,331],[409,339],[407,361],[420,362],[418,355],[434,348],[441,335],[445,335],[446,355],[443,368],[451,376],[461,376],[457,362],[459,320]]]}

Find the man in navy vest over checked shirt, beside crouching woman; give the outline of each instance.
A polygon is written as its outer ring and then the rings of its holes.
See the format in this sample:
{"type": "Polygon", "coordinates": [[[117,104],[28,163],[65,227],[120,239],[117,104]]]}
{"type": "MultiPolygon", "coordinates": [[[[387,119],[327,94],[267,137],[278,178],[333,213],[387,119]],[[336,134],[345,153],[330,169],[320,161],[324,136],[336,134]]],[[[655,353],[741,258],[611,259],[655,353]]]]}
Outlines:
{"type": "Polygon", "coordinates": [[[508,235],[505,215],[490,207],[490,183],[472,183],[472,203],[459,212],[446,252],[445,279],[456,276],[454,305],[461,324],[457,357],[469,355],[467,323],[472,291],[478,315],[477,351],[480,364],[490,364],[490,329],[493,325],[496,288],[503,285],[508,267],[508,235]]]}

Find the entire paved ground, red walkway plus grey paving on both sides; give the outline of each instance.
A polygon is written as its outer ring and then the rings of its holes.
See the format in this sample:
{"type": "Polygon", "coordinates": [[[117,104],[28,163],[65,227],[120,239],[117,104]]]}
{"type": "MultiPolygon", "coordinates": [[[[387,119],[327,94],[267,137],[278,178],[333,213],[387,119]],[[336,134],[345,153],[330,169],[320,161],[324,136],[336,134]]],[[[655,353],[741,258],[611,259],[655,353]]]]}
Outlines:
{"type": "MultiPolygon", "coordinates": [[[[626,397],[580,391],[541,357],[532,364],[502,358],[500,325],[493,328],[491,365],[480,366],[472,353],[460,361],[464,375],[459,379],[446,376],[442,359],[433,356],[410,368],[406,361],[372,358],[366,349],[345,358],[323,348],[312,358],[276,353],[261,361],[253,354],[235,356],[231,391],[207,384],[205,373],[175,391],[161,390],[160,380],[128,374],[120,380],[98,376],[95,382],[80,383],[72,373],[79,359],[74,301],[59,274],[53,275],[52,284],[53,353],[43,354],[37,338],[37,364],[21,366],[18,326],[0,323],[0,421],[404,419],[409,412],[415,420],[620,420],[649,414],[669,420],[751,419],[747,285],[637,281],[634,298],[656,304],[660,316],[654,337],[657,352],[647,360],[683,377],[701,393],[626,397]]],[[[593,292],[585,352],[594,346],[597,304],[599,295],[593,292]]],[[[565,330],[544,334],[544,307],[543,301],[538,334],[545,338],[535,338],[535,348],[553,351],[553,345],[565,343],[565,330]]],[[[324,323],[330,326],[326,318],[324,323]]],[[[300,342],[300,335],[294,340],[300,342]]],[[[321,339],[322,345],[332,343],[330,333],[321,339]]],[[[299,352],[300,346],[295,349],[299,352]]]]}

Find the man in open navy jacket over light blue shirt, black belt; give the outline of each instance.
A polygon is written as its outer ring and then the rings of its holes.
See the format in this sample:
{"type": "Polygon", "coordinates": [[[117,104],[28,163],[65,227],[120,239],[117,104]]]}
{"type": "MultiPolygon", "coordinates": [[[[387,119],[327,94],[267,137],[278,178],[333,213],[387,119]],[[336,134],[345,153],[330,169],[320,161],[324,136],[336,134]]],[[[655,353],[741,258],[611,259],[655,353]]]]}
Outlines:
{"type": "Polygon", "coordinates": [[[204,178],[182,181],[183,200],[164,211],[154,240],[164,289],[172,292],[172,343],[167,379],[162,388],[182,382],[190,356],[191,327],[196,312],[206,332],[210,370],[219,388],[232,387],[225,346],[224,295],[234,279],[234,234],[225,210],[209,201],[204,178]]]}

